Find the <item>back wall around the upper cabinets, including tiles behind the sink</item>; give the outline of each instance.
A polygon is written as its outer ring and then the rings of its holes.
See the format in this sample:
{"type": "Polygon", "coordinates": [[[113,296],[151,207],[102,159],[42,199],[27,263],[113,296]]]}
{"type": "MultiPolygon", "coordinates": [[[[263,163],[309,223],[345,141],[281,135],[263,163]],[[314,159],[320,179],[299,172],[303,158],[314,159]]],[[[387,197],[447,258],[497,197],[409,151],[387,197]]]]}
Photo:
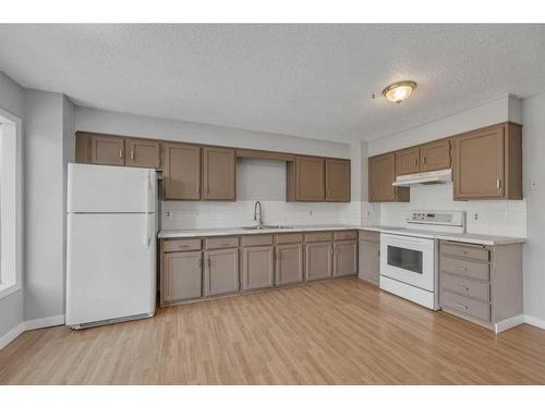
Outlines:
{"type": "Polygon", "coordinates": [[[164,227],[211,227],[251,224],[253,201],[262,200],[267,223],[317,224],[344,222],[360,224],[362,154],[365,145],[353,146],[295,136],[233,129],[206,124],[170,121],[126,113],[76,107],[77,131],[158,139],[232,146],[352,159],[352,200],[342,203],[287,203],[284,163],[268,160],[239,160],[238,202],[175,202],[162,206],[164,227]],[[355,148],[352,148],[354,147],[355,148]],[[169,213],[171,217],[165,217],[169,213]],[[267,219],[268,214],[268,219],[267,219]],[[250,219],[249,219],[250,218],[250,219]]]}

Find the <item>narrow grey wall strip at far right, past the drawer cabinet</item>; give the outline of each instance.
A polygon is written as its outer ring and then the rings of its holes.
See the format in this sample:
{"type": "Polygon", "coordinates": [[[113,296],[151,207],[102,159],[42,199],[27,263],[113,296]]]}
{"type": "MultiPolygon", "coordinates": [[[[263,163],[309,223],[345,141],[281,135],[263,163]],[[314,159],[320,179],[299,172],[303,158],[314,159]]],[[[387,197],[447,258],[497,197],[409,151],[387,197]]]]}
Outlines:
{"type": "Polygon", "coordinates": [[[524,245],[524,313],[545,323],[545,92],[522,103],[524,196],[528,242],[524,245]]]}

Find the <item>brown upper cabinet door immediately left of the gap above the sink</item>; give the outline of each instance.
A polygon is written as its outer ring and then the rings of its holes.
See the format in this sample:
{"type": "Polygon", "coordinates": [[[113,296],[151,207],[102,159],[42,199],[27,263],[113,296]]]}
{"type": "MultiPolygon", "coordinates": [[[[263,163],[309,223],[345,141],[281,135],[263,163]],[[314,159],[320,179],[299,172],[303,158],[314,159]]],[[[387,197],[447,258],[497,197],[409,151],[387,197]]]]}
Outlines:
{"type": "Polygon", "coordinates": [[[203,148],[205,200],[235,199],[235,161],[233,149],[203,148]]]}

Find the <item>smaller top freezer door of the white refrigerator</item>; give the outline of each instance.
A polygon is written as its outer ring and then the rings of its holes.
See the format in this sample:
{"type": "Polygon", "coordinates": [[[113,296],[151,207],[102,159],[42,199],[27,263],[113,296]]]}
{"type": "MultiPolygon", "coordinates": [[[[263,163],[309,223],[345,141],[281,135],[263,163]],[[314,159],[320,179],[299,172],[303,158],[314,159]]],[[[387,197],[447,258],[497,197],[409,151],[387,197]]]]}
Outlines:
{"type": "Polygon", "coordinates": [[[153,169],[70,163],[68,212],[155,212],[153,169]]]}

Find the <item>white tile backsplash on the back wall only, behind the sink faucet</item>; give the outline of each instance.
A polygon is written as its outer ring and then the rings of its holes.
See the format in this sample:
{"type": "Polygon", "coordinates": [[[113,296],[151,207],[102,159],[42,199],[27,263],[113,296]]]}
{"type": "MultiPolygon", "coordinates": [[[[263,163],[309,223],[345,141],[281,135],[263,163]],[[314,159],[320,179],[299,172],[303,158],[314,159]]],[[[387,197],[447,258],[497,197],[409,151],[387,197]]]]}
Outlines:
{"type": "MultiPolygon", "coordinates": [[[[161,228],[211,228],[254,225],[254,200],[234,202],[164,201],[161,228]]],[[[263,222],[269,225],[361,224],[361,201],[261,201],[263,222]]]]}

